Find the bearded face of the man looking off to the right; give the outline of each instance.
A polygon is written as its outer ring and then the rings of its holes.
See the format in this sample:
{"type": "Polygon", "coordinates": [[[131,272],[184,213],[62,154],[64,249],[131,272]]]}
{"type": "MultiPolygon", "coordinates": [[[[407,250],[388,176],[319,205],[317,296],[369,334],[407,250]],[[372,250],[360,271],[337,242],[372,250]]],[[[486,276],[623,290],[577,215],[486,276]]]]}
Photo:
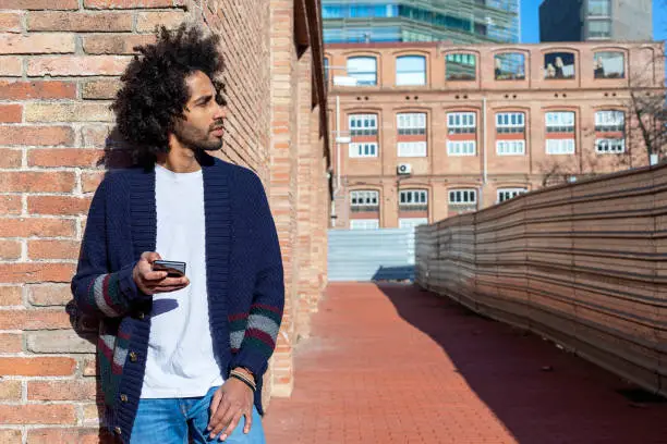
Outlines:
{"type": "Polygon", "coordinates": [[[190,100],[183,112],[185,118],[175,122],[173,135],[194,151],[216,151],[222,147],[227,113],[216,102],[216,89],[206,74],[196,71],[185,78],[185,84],[190,100]]]}

